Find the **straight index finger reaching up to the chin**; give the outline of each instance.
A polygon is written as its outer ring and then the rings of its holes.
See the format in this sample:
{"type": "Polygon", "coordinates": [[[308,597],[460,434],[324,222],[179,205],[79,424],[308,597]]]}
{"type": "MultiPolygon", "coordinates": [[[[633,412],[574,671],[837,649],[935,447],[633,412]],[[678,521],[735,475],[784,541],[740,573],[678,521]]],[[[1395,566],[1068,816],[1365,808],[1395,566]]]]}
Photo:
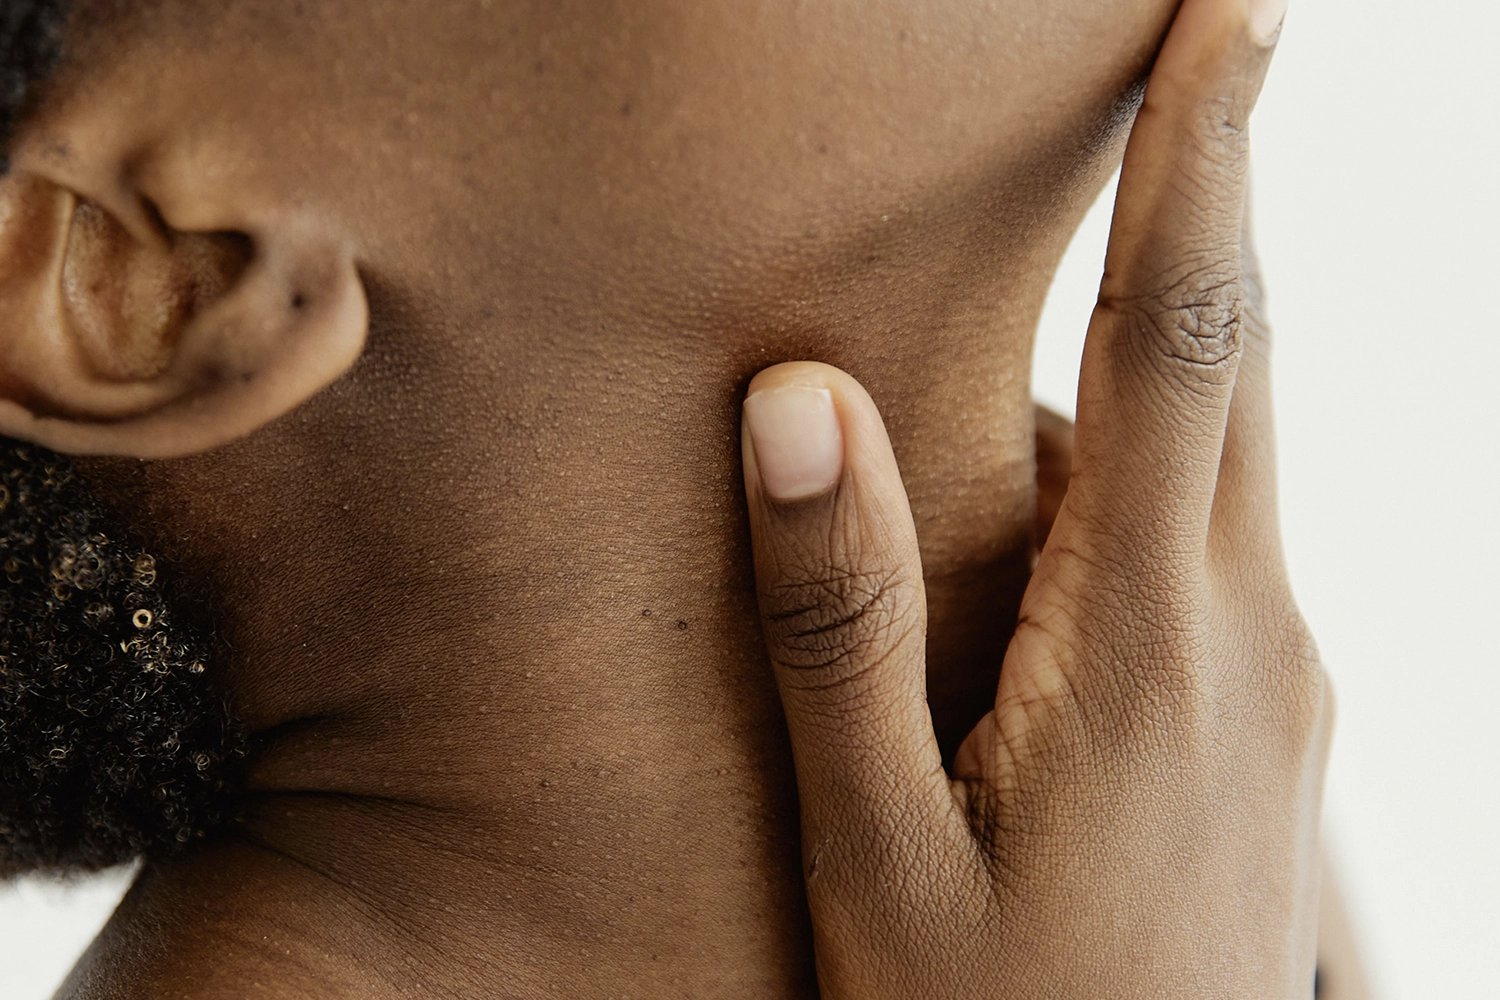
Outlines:
{"type": "Polygon", "coordinates": [[[1185,0],[1131,130],[1068,505],[1126,564],[1203,561],[1240,358],[1246,124],[1278,16],[1256,0],[1185,0]]]}

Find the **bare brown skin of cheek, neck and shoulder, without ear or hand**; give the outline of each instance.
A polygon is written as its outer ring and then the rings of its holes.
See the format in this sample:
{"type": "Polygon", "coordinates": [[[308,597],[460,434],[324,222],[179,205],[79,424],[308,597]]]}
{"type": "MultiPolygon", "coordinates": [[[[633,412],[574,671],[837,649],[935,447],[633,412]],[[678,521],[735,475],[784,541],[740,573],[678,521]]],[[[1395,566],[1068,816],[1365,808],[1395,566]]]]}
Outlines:
{"type": "Polygon", "coordinates": [[[225,447],[80,459],[216,595],[250,798],[64,996],[816,996],[740,400],[816,358],[879,402],[951,753],[1030,567],[1036,316],[1173,9],[80,7],[6,183],[225,285],[214,234],[336,238],[369,336],[225,447]]]}

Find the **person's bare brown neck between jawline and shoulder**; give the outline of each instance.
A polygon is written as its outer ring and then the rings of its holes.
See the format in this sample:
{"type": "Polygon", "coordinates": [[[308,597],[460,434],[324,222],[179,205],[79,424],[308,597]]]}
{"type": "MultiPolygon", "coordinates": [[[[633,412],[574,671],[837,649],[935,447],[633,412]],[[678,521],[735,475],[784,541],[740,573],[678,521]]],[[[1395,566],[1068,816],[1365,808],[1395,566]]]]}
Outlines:
{"type": "Polygon", "coordinates": [[[372,282],[388,328],[304,412],[198,459],[88,463],[218,594],[254,753],[231,838],[148,865],[64,996],[816,996],[740,397],[814,358],[880,405],[951,751],[1029,571],[1030,334],[1059,252],[698,334],[518,337],[472,297],[429,349],[372,282]]]}

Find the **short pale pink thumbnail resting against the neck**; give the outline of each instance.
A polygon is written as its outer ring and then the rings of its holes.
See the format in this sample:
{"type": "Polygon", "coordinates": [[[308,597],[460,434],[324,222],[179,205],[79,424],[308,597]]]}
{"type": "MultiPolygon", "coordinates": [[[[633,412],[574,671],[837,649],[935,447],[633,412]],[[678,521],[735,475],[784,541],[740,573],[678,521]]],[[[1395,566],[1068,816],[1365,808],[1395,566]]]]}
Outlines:
{"type": "Polygon", "coordinates": [[[760,487],[774,501],[822,493],[843,474],[843,429],[834,396],[814,385],[778,385],[746,399],[746,426],[760,471],[760,487]]]}

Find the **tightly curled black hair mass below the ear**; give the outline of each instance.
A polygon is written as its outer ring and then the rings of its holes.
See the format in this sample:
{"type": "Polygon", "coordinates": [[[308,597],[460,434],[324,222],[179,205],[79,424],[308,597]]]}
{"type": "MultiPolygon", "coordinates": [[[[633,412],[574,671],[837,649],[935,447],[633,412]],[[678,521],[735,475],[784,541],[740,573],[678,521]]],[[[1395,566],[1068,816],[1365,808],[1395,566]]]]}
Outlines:
{"type": "Polygon", "coordinates": [[[0,877],[180,852],[243,735],[204,628],[70,463],[0,438],[0,877]]]}

